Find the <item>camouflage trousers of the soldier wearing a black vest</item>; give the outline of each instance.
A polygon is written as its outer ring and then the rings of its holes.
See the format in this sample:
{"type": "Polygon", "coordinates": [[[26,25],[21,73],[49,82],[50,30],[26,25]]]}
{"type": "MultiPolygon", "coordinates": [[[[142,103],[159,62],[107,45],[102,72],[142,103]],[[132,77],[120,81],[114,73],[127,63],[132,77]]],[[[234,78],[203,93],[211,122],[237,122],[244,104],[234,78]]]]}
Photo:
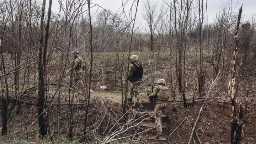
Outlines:
{"type": "Polygon", "coordinates": [[[130,85],[130,98],[133,98],[133,96],[135,96],[136,98],[136,102],[135,105],[137,105],[138,107],[143,107],[142,103],[141,103],[141,99],[139,96],[139,85],[142,83],[142,81],[134,81],[132,82],[132,84],[130,85]]]}

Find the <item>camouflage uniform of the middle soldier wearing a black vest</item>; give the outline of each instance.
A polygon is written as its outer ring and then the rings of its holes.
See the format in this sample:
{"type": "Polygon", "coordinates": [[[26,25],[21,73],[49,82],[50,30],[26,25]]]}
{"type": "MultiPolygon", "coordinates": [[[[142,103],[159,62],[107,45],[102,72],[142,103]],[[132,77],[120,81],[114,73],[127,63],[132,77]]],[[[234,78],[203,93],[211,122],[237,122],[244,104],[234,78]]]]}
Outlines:
{"type": "MultiPolygon", "coordinates": [[[[133,62],[132,64],[130,64],[129,66],[129,73],[128,73],[128,76],[127,76],[127,80],[130,81],[132,84],[130,85],[130,99],[133,98],[133,96],[135,96],[136,98],[136,102],[135,104],[138,105],[138,107],[143,107],[142,106],[142,102],[141,102],[141,99],[140,99],[140,96],[139,96],[139,85],[142,83],[142,76],[141,78],[135,78],[136,76],[134,76],[137,71],[136,71],[136,68],[142,68],[142,64],[140,64],[137,60],[135,62],[133,62]]],[[[142,68],[143,70],[143,68],[142,68]]]]}

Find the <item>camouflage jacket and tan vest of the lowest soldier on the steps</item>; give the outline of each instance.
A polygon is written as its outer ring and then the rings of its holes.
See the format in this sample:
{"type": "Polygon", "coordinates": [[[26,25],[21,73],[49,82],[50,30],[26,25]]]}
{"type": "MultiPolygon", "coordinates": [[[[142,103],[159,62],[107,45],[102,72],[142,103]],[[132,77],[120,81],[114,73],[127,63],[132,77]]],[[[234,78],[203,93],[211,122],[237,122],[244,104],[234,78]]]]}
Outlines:
{"type": "Polygon", "coordinates": [[[167,103],[169,100],[169,89],[163,85],[155,86],[148,98],[150,100],[155,98],[155,103],[167,103]]]}

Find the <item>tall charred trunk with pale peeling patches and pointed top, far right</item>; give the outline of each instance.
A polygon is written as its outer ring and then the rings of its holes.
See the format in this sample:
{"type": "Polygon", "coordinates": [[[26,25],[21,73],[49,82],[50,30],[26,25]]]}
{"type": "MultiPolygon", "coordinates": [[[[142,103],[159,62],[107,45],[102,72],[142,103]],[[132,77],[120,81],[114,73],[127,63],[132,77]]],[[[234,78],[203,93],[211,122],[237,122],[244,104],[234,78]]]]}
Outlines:
{"type": "Polygon", "coordinates": [[[239,138],[241,135],[241,125],[238,123],[238,118],[236,117],[236,97],[235,97],[235,74],[236,74],[236,54],[238,53],[238,31],[239,31],[239,25],[240,25],[240,19],[242,14],[242,6],[239,9],[238,14],[238,22],[236,23],[236,29],[235,29],[235,47],[234,52],[232,55],[232,76],[230,79],[230,85],[229,85],[229,93],[231,97],[231,137],[230,137],[230,143],[231,144],[237,144],[239,143],[239,138]]]}

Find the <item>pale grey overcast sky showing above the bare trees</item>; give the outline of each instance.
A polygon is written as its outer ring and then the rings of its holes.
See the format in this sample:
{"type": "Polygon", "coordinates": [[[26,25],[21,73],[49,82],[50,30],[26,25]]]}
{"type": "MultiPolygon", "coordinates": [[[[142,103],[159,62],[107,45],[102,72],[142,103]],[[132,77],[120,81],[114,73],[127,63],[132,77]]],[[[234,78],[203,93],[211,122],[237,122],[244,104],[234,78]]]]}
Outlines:
{"type": "MultiPolygon", "coordinates": [[[[91,0],[92,4],[98,4],[104,9],[110,9],[113,13],[116,13],[119,9],[119,12],[121,12],[120,8],[122,6],[122,1],[127,1],[127,0],[91,0]]],[[[128,13],[130,6],[132,4],[133,0],[129,0],[127,5],[126,5],[126,12],[128,13]]],[[[145,0],[139,0],[139,7],[138,7],[138,12],[137,12],[137,26],[143,26],[145,27],[145,20],[143,19],[143,1],[145,0]]],[[[166,4],[162,0],[150,0],[153,1],[154,3],[157,4],[157,7],[160,8],[162,5],[164,7],[167,7],[166,4]]],[[[231,0],[208,0],[207,2],[207,11],[208,11],[208,22],[212,23],[214,22],[216,13],[221,9],[222,6],[226,5],[228,2],[230,3],[231,0]]],[[[232,4],[235,7],[236,4],[236,9],[234,14],[238,14],[239,8],[243,4],[242,7],[242,21],[247,21],[251,20],[252,15],[256,14],[256,0],[232,0],[232,4]]],[[[204,5],[206,3],[206,0],[204,0],[204,5]]],[[[57,0],[53,1],[53,11],[58,11],[58,2],[57,0]]],[[[92,5],[91,5],[92,6],[92,5]]],[[[96,10],[98,7],[93,7],[91,9],[91,15],[95,14],[96,10]]],[[[122,8],[121,8],[122,9],[122,8]]],[[[204,8],[205,9],[205,8],[204,8]]],[[[99,8],[99,11],[102,9],[99,8]]],[[[133,14],[135,11],[133,12],[133,14]]]]}

